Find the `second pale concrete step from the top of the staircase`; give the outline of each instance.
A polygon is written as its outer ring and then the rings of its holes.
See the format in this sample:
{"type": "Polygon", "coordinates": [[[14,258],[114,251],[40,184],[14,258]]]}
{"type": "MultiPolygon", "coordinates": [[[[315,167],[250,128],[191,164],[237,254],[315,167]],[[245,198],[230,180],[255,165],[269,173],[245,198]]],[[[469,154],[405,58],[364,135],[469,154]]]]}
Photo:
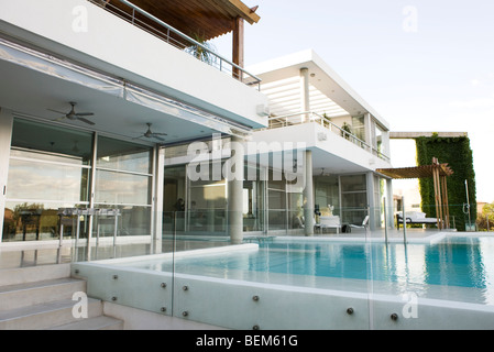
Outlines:
{"type": "Polygon", "coordinates": [[[86,293],[86,282],[69,277],[0,286],[0,311],[72,299],[77,292],[86,293]]]}

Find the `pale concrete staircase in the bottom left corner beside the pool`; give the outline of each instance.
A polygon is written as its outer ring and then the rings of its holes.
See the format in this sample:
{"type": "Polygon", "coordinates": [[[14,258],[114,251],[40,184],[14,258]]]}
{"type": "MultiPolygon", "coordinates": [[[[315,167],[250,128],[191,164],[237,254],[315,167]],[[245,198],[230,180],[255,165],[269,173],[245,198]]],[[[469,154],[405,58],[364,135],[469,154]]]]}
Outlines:
{"type": "Polygon", "coordinates": [[[75,318],[86,282],[70,277],[69,264],[0,270],[0,330],[121,330],[123,321],[103,315],[88,298],[88,318],[75,318]]]}

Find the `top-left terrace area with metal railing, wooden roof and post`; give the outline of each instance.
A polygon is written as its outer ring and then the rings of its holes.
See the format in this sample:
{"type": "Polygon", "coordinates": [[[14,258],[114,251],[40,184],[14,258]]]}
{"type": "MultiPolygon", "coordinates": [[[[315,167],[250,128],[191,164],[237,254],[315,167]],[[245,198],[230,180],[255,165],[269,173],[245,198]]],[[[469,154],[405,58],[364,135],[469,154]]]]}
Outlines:
{"type": "Polygon", "coordinates": [[[169,45],[229,76],[260,89],[261,79],[243,68],[243,22],[260,20],[241,1],[88,0],[146,31],[169,45]],[[209,40],[233,32],[232,58],[226,58],[209,40]]]}

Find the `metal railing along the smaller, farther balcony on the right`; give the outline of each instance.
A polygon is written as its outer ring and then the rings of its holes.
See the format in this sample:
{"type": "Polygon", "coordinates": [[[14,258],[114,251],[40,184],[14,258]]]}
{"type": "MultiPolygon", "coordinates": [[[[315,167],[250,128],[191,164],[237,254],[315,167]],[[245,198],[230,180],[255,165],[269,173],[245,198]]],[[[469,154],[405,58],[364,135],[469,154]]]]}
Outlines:
{"type": "Polygon", "coordinates": [[[336,123],[331,122],[328,118],[320,116],[314,111],[304,111],[304,112],[296,112],[287,116],[282,117],[272,117],[268,118],[268,128],[267,129],[278,129],[278,128],[285,128],[288,125],[296,125],[301,123],[308,123],[308,122],[316,122],[320,125],[327,128],[329,131],[340,135],[341,138],[348,140],[349,142],[360,146],[361,148],[367,151],[369,153],[372,153],[380,158],[384,161],[389,161],[389,157],[383,153],[381,153],[377,148],[369,145],[366,142],[359,139],[356,135],[354,135],[351,132],[348,132],[337,125],[336,123]]]}

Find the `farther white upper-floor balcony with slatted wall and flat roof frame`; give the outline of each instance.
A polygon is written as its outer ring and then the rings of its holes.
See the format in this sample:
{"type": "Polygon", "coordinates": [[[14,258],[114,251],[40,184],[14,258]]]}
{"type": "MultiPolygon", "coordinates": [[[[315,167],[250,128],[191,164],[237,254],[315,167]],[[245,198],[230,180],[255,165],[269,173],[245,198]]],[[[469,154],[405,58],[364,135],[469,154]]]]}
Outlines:
{"type": "Polygon", "coordinates": [[[262,79],[270,106],[268,125],[254,133],[255,140],[306,142],[326,170],[389,165],[387,122],[316,53],[295,53],[250,69],[262,79]]]}

